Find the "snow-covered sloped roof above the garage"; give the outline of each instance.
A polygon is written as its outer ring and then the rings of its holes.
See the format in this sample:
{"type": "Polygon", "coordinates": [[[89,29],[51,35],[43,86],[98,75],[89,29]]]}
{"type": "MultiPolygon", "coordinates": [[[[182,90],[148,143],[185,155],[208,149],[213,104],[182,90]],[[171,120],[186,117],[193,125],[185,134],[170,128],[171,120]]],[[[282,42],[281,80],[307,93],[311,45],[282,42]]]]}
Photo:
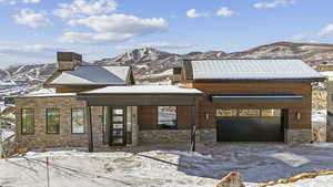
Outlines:
{"type": "Polygon", "coordinates": [[[301,60],[191,61],[193,80],[322,80],[301,60]]]}

